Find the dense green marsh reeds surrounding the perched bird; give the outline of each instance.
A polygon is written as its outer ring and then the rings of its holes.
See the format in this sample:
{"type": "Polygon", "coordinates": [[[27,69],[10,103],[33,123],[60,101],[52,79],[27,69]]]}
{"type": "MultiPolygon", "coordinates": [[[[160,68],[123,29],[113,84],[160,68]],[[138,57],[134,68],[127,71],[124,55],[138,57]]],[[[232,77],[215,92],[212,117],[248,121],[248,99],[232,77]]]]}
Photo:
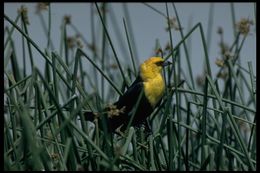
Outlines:
{"type": "MultiPolygon", "coordinates": [[[[98,30],[94,25],[90,42],[81,37],[83,34],[67,16],[61,27],[59,51],[50,51],[57,45],[51,40],[51,4],[45,5],[40,9],[48,10],[47,22],[41,12],[38,14],[48,38],[46,49],[30,37],[25,8],[15,20],[4,15],[11,26],[5,29],[4,40],[4,170],[256,170],[256,74],[252,62],[248,62],[248,68],[240,64],[239,53],[247,35],[236,30],[232,4],[234,41],[230,48],[224,42],[220,44],[223,53],[216,62],[218,76],[211,72],[210,34],[205,34],[201,23],[184,33],[174,4],[165,4],[166,14],[144,4],[169,19],[168,49],[158,50],[174,62],[164,70],[168,87],[162,104],[149,117],[153,130],[149,136],[145,129],[131,126],[124,134],[109,134],[105,118],[101,131],[98,124],[86,122],[83,116],[85,110],[101,111],[107,98],[121,95],[138,74],[127,5],[123,5],[126,17],[118,24],[124,26],[124,35],[116,39],[126,43],[122,49],[128,51],[130,65],[120,62],[106,28],[108,11],[112,10],[107,10],[107,4],[91,4],[91,20],[100,21],[101,45],[95,38],[98,30]],[[170,16],[176,16],[175,25],[170,16]],[[78,37],[68,37],[69,27],[78,37]],[[22,53],[15,48],[14,30],[22,37],[22,53]],[[172,32],[181,35],[180,42],[173,43],[172,32]],[[188,38],[195,33],[201,38],[197,42],[202,43],[201,61],[205,64],[199,80],[193,76],[187,46],[188,38]],[[182,47],[184,54],[180,54],[182,47]],[[32,50],[45,61],[44,73],[32,50]],[[19,58],[30,63],[19,64],[19,58]],[[183,73],[186,70],[181,58],[186,59],[188,76],[183,73]],[[84,68],[86,62],[91,69],[84,68]]],[[[219,34],[222,37],[221,30],[219,34]]]]}

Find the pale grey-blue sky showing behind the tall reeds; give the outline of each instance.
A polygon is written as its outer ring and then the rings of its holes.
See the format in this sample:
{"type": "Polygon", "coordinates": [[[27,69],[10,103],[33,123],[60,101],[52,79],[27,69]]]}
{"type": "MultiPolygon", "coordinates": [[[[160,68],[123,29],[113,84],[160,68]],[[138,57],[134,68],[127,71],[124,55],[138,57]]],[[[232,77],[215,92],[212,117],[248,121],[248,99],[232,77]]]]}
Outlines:
{"type": "MultiPolygon", "coordinates": [[[[28,26],[31,38],[39,44],[39,46],[44,50],[47,45],[47,38],[44,34],[43,27],[40,23],[40,18],[35,14],[36,4],[35,3],[5,3],[4,13],[8,15],[12,20],[15,20],[17,15],[17,9],[25,4],[28,7],[30,25],[28,26]]],[[[165,3],[149,3],[157,10],[161,11],[166,15],[165,3]]],[[[215,60],[220,55],[220,48],[218,46],[220,37],[217,34],[218,27],[222,27],[224,31],[224,41],[231,45],[233,42],[233,27],[231,18],[231,6],[230,3],[214,3],[214,8],[211,8],[211,3],[175,3],[180,21],[183,27],[184,34],[190,31],[198,22],[201,22],[206,39],[208,38],[207,29],[209,22],[209,10],[213,10],[213,21],[211,25],[211,42],[209,47],[209,57],[210,65],[212,67],[213,74],[216,74],[218,68],[215,65],[215,60]]],[[[52,15],[52,27],[51,27],[51,37],[53,39],[54,47],[57,52],[59,52],[60,35],[61,35],[61,21],[64,15],[70,15],[72,23],[78,28],[78,30],[83,34],[84,38],[91,42],[91,20],[90,20],[90,3],[51,3],[51,15],[52,15]]],[[[94,6],[95,7],[95,6],[94,6]]],[[[147,7],[142,3],[127,3],[130,22],[132,24],[133,36],[135,40],[135,47],[137,48],[137,58],[139,59],[138,64],[143,60],[153,55],[153,49],[155,47],[155,41],[158,39],[160,45],[164,47],[167,42],[169,42],[169,34],[165,31],[167,26],[166,19],[159,15],[157,12],[153,11],[151,8],[147,7]]],[[[169,15],[170,17],[175,17],[173,6],[168,3],[169,15]]],[[[255,21],[255,7],[254,3],[234,3],[235,8],[235,18],[239,21],[241,18],[249,18],[255,21]]],[[[115,29],[115,24],[111,20],[111,16],[108,17],[108,28],[111,34],[112,42],[115,45],[116,52],[118,53],[120,61],[125,61],[130,63],[129,51],[127,49],[127,41],[124,31],[123,18],[126,19],[125,13],[123,11],[122,3],[109,3],[109,13],[113,12],[113,21],[116,21],[118,27],[117,31],[115,29]],[[121,37],[119,37],[121,35],[121,37]],[[120,42],[117,38],[121,39],[120,42]],[[126,47],[126,50],[122,48],[122,44],[126,47]],[[120,46],[121,45],[121,46],[120,46]]],[[[43,12],[43,16],[47,21],[48,11],[43,12]]],[[[95,16],[95,26],[98,26],[100,19],[98,14],[95,16]]],[[[8,25],[6,20],[4,25],[8,25]]],[[[96,28],[97,29],[97,28],[96,28]]],[[[173,32],[173,45],[177,44],[180,40],[180,33],[178,31],[173,32]]],[[[97,32],[101,33],[101,28],[97,29],[97,32]]],[[[68,35],[74,35],[72,30],[68,30],[68,35]]],[[[102,35],[96,36],[96,39],[101,43],[102,35]]],[[[13,34],[13,39],[15,41],[15,47],[18,52],[21,52],[21,36],[18,32],[13,34]]],[[[192,61],[192,69],[194,69],[194,74],[199,74],[202,72],[204,51],[201,42],[200,33],[195,31],[191,37],[191,53],[190,58],[192,61]]],[[[100,44],[101,45],[101,44],[100,44]]],[[[111,48],[109,48],[111,49],[111,48]]],[[[84,49],[86,52],[89,50],[84,49]]],[[[112,51],[111,51],[112,52],[112,51]]],[[[181,52],[183,57],[183,69],[187,66],[185,65],[186,60],[184,58],[185,54],[181,52]]],[[[112,53],[111,53],[112,55],[112,53]]],[[[42,66],[44,62],[39,54],[36,55],[36,64],[42,66]],[[38,56],[38,57],[37,57],[38,56]]],[[[114,59],[112,60],[114,61],[114,59]]],[[[248,69],[247,62],[253,62],[253,70],[256,72],[256,31],[255,25],[251,26],[251,32],[244,43],[244,47],[241,50],[241,63],[242,66],[248,69]]],[[[188,75],[188,72],[185,72],[188,75]]]]}

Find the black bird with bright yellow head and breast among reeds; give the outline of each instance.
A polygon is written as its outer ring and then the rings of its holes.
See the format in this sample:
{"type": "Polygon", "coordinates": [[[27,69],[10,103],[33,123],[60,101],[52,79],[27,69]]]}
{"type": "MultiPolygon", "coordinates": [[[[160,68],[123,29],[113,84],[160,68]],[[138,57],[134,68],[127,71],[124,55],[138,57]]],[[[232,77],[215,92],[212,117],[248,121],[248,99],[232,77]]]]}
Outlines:
{"type": "MultiPolygon", "coordinates": [[[[129,121],[134,127],[144,125],[150,131],[147,117],[160,104],[165,92],[165,81],[162,70],[172,64],[162,57],[150,57],[139,67],[139,72],[130,87],[114,104],[107,106],[102,112],[86,111],[84,117],[87,121],[97,120],[102,123],[101,117],[106,118],[108,132],[117,129],[124,131],[129,121]]],[[[102,127],[102,124],[99,125],[102,127]]]]}

